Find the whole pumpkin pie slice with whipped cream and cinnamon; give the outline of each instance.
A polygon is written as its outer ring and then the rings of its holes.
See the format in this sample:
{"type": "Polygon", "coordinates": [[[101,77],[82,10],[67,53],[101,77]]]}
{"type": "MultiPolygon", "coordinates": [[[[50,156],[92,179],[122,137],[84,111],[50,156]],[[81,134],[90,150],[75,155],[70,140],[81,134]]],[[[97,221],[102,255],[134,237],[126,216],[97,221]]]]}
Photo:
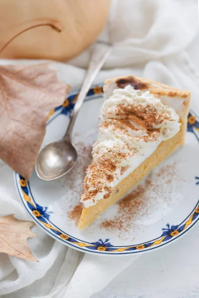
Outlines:
{"type": "Polygon", "coordinates": [[[79,228],[95,221],[185,142],[189,91],[135,76],[108,79],[103,89],[79,228]]]}

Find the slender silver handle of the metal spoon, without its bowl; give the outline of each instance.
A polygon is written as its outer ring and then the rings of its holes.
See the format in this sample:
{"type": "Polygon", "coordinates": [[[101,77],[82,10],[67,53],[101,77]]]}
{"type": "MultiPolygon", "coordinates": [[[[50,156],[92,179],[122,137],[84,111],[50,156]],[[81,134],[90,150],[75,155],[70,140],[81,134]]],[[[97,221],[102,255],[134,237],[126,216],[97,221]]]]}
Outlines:
{"type": "Polygon", "coordinates": [[[111,46],[108,46],[106,44],[102,43],[96,43],[93,46],[92,53],[91,53],[91,58],[89,61],[89,66],[86,72],[86,75],[84,77],[83,85],[80,90],[78,99],[76,101],[73,113],[71,115],[71,119],[68,125],[68,129],[66,131],[66,134],[64,136],[64,139],[67,139],[71,141],[72,143],[72,131],[73,131],[73,126],[75,124],[76,117],[78,115],[78,112],[82,106],[82,103],[94,81],[96,76],[98,75],[101,67],[103,66],[105,60],[107,57],[110,55],[110,52],[112,50],[111,46]]]}

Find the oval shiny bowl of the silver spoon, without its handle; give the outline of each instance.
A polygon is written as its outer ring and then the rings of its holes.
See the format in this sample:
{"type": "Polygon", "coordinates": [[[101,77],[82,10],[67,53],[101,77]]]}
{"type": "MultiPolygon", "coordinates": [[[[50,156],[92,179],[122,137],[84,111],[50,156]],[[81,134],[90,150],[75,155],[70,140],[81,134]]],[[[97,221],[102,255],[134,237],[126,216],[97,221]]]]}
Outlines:
{"type": "Polygon", "coordinates": [[[42,180],[55,180],[74,167],[77,157],[77,150],[70,141],[51,143],[39,153],[35,165],[36,173],[42,180]]]}

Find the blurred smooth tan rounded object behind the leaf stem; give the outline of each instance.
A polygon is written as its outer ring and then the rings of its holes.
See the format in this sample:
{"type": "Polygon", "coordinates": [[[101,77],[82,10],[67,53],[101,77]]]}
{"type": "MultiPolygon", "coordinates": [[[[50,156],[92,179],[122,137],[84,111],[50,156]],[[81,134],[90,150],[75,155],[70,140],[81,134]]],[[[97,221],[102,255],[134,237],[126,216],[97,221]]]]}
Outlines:
{"type": "Polygon", "coordinates": [[[110,0],[0,0],[0,58],[66,61],[96,40],[110,0]],[[59,32],[60,31],[60,32],[59,32]]]}

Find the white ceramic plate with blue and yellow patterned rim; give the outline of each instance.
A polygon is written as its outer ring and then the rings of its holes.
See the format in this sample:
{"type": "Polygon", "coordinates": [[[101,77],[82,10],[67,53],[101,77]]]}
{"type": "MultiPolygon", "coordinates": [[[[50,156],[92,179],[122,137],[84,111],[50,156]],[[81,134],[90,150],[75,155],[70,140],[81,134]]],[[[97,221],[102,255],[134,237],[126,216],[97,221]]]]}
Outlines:
{"type": "MultiPolygon", "coordinates": [[[[181,237],[199,220],[199,117],[190,111],[186,145],[84,230],[76,227],[80,193],[91,162],[102,104],[102,84],[93,86],[78,115],[74,140],[79,150],[75,168],[45,182],[33,172],[29,181],[14,173],[17,192],[34,222],[51,237],[83,252],[121,255],[157,249],[181,237]]],[[[59,140],[69,123],[79,90],[50,112],[42,146],[59,140]]]]}

